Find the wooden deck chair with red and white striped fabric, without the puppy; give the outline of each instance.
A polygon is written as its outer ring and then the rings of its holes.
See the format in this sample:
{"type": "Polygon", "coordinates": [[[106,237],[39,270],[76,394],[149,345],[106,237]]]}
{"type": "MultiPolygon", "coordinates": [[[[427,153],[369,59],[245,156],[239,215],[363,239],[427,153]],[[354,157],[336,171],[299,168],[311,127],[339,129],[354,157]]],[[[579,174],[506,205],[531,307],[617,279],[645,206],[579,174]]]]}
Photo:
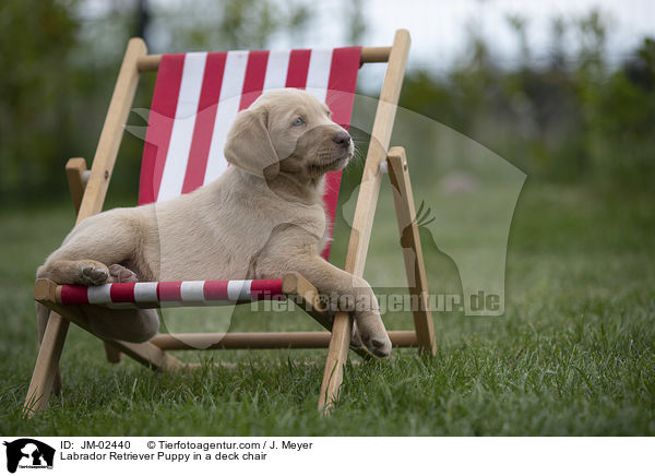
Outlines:
{"type": "MultiPolygon", "coordinates": [[[[428,289],[407,160],[402,147],[388,151],[408,50],[409,34],[404,29],[396,32],[391,47],[163,56],[147,55],[144,41],[132,38],[118,75],[92,169],[86,170],[82,158],[70,159],[67,164],[71,195],[78,211],[76,223],[103,209],[140,73],[158,71],[139,192],[139,202],[148,203],[189,192],[216,178],[227,166],[223,157],[223,143],[231,120],[262,91],[275,87],[307,88],[321,100],[327,99],[335,121],[347,127],[358,69],[368,62],[388,62],[345,270],[359,276],[364,273],[377,199],[386,172],[394,193],[401,242],[410,251],[403,253],[409,293],[420,301],[420,306],[414,310],[415,330],[393,331],[390,337],[395,347],[413,346],[433,355],[432,318],[428,308],[428,289]],[[335,93],[338,93],[338,98],[332,100],[334,97],[331,96],[335,93]]],[[[341,172],[331,174],[326,180],[325,209],[327,216],[334,221],[341,172]]],[[[327,246],[323,257],[327,259],[329,253],[327,246]]],[[[51,312],[24,405],[24,415],[28,417],[46,407],[51,392],[60,391],[58,366],[69,323],[85,328],[79,305],[87,304],[155,308],[171,304],[196,306],[224,300],[243,302],[293,297],[305,304],[305,309],[326,329],[325,332],[158,334],[141,344],[108,341],[105,343],[107,358],[117,362],[124,354],[153,369],[171,370],[190,366],[168,353],[174,349],[327,347],[320,409],[330,412],[338,398],[350,344],[352,318],[347,312],[329,314],[322,307],[319,291],[301,275],[229,282],[121,283],[88,288],[60,286],[48,279],[37,279],[34,296],[51,312]]]]}

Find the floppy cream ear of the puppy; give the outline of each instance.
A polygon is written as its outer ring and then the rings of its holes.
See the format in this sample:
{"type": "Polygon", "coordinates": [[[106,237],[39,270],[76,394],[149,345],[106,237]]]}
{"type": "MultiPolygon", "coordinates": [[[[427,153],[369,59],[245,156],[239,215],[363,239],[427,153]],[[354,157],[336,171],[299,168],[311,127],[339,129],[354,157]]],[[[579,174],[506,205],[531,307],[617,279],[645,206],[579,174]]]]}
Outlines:
{"type": "Polygon", "coordinates": [[[279,159],[266,129],[267,110],[263,106],[237,115],[225,142],[225,159],[249,174],[273,178],[279,172],[279,159]]]}

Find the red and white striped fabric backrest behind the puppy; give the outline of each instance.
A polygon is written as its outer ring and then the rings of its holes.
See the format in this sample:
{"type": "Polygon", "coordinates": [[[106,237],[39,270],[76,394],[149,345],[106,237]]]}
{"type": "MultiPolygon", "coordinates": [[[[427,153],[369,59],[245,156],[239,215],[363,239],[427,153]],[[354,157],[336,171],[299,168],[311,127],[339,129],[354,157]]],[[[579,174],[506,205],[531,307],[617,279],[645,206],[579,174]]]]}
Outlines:
{"type": "MultiPolygon", "coordinates": [[[[361,48],[164,55],[151,107],[139,203],[160,202],[216,179],[227,162],[227,131],[237,112],[263,92],[305,88],[348,128],[361,48]]],[[[341,172],[326,178],[330,228],[341,172]]],[[[330,240],[323,250],[330,255],[330,240]]]]}

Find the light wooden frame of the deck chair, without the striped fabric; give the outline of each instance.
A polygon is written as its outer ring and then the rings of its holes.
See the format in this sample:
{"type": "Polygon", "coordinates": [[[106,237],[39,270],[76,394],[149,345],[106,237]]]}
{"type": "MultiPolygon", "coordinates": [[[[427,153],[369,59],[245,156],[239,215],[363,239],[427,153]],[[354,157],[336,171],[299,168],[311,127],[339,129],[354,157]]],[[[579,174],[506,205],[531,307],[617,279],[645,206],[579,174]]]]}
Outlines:
{"type": "MultiPolygon", "coordinates": [[[[393,46],[365,47],[361,50],[361,63],[388,62],[388,68],[366,157],[344,269],[357,276],[364,274],[380,185],[382,176],[388,171],[393,186],[402,246],[413,251],[403,253],[409,291],[413,296],[417,296],[420,302],[418,309],[414,310],[415,330],[391,331],[389,334],[395,347],[417,346],[419,350],[434,355],[434,331],[428,306],[428,286],[407,159],[402,147],[386,151],[405,74],[409,43],[408,32],[398,29],[395,33],[393,46]]],[[[147,55],[145,43],[141,38],[130,39],[92,169],[86,169],[83,158],[71,158],[68,162],[66,171],[73,204],[78,212],[76,224],[102,211],[140,73],[156,71],[160,58],[160,55],[147,55]]],[[[48,279],[37,279],[34,297],[50,308],[51,312],[23,408],[24,415],[27,417],[32,417],[47,406],[51,392],[59,393],[61,390],[59,359],[69,323],[74,322],[90,331],[80,308],[62,306],[58,291],[59,287],[55,283],[48,279]]],[[[183,342],[174,335],[158,334],[150,342],[141,344],[121,341],[105,342],[107,358],[111,362],[118,362],[121,353],[124,353],[153,369],[172,370],[193,367],[193,365],[178,360],[166,350],[327,347],[319,408],[323,413],[329,413],[334,403],[338,401],[353,321],[347,312],[337,312],[333,318],[326,314],[318,300],[318,290],[298,274],[284,276],[283,291],[287,296],[299,297],[308,306],[309,314],[331,332],[249,332],[228,333],[224,336],[219,334],[186,334],[183,342]]],[[[358,353],[366,354],[362,349],[359,349],[358,353]]]]}

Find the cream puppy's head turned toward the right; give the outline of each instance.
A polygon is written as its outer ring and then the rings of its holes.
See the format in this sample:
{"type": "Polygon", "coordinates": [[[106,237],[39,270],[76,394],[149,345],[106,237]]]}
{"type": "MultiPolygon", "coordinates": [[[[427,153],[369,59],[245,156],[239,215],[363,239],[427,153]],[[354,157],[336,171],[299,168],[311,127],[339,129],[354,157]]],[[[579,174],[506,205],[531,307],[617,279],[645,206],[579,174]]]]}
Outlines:
{"type": "Polygon", "coordinates": [[[276,90],[237,115],[225,158],[260,177],[279,171],[314,179],[341,170],[353,157],[350,135],[327,106],[300,90],[276,90]]]}

